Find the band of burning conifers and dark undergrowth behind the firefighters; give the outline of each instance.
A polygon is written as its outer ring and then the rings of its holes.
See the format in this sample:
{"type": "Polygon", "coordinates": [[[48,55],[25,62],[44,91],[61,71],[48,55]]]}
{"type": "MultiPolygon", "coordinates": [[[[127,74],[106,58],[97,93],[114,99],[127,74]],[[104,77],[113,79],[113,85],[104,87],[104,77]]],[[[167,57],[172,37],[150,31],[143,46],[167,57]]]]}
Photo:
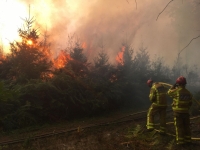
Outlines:
{"type": "MultiPolygon", "coordinates": [[[[0,123],[2,130],[98,116],[121,109],[149,107],[148,79],[174,84],[184,75],[195,99],[200,99],[197,66],[183,63],[177,54],[173,66],[162,57],[150,59],[148,48],[133,49],[122,42],[116,63],[106,48],[89,61],[80,41],[54,57],[48,37],[41,40],[34,18],[24,20],[20,41],[10,43],[10,53],[0,54],[0,123]],[[190,69],[189,69],[190,68],[190,69]]],[[[194,105],[192,113],[197,113],[194,105]]]]}

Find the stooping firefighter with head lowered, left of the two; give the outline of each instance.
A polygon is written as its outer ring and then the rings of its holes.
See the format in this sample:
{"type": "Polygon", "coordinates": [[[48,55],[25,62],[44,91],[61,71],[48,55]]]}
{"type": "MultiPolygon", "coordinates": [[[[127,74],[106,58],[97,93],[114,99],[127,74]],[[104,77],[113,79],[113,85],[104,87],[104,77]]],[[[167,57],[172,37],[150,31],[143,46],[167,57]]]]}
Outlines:
{"type": "Polygon", "coordinates": [[[154,116],[159,114],[160,134],[166,132],[166,109],[167,109],[167,89],[159,82],[148,80],[147,85],[150,87],[149,100],[151,106],[147,113],[147,130],[154,130],[154,116]]]}

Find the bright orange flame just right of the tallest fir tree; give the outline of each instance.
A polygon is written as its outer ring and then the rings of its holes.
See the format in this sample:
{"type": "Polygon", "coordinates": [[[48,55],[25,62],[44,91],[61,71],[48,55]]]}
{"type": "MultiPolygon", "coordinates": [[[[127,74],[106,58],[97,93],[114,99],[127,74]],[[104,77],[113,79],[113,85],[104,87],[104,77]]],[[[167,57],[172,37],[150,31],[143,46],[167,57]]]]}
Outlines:
{"type": "Polygon", "coordinates": [[[60,51],[60,54],[58,55],[58,57],[55,60],[53,60],[53,66],[56,69],[63,68],[68,62],[68,60],[71,60],[71,59],[72,58],[70,57],[70,55],[62,50],[60,51]]]}

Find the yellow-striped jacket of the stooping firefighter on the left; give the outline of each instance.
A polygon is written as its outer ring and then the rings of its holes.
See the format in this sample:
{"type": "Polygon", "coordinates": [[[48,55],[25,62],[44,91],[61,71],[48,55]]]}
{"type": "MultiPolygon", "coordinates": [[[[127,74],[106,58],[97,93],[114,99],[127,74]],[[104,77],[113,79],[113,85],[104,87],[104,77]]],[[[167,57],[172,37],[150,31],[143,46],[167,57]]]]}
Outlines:
{"type": "Polygon", "coordinates": [[[166,88],[155,82],[150,89],[149,100],[156,106],[167,106],[166,93],[166,88]]]}

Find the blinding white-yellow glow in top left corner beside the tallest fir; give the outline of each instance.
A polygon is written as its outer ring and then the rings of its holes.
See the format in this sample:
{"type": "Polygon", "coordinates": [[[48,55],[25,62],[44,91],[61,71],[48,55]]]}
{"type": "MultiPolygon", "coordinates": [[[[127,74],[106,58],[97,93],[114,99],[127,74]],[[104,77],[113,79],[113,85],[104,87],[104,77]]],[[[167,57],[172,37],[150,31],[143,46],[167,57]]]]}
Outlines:
{"type": "Polygon", "coordinates": [[[27,6],[23,3],[16,0],[0,1],[0,40],[6,53],[9,52],[9,43],[20,39],[17,31],[22,26],[21,18],[26,14],[27,6]]]}

